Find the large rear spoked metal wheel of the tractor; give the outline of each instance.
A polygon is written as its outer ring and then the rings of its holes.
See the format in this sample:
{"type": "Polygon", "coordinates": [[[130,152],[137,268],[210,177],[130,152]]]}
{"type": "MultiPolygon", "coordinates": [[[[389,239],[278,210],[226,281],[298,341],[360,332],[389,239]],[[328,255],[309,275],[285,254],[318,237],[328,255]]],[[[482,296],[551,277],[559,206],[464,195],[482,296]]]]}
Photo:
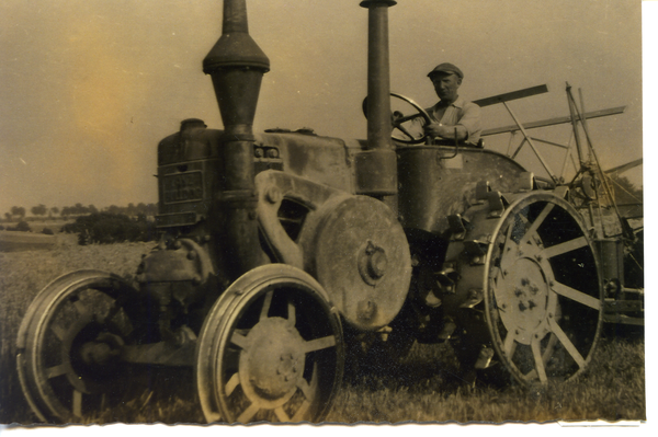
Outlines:
{"type": "Polygon", "coordinates": [[[602,288],[576,210],[551,194],[526,196],[492,242],[485,309],[500,360],[523,383],[578,375],[599,338],[602,288]]]}

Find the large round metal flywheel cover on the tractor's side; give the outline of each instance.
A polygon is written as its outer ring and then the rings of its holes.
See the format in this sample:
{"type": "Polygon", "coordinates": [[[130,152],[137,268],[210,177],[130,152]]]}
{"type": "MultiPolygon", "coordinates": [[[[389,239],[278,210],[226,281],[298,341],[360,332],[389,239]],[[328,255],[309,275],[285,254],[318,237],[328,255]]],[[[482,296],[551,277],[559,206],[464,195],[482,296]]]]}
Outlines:
{"type": "Polygon", "coordinates": [[[409,243],[397,216],[367,196],[337,196],[300,234],[305,269],[341,315],[362,331],[390,323],[411,280],[409,243]]]}

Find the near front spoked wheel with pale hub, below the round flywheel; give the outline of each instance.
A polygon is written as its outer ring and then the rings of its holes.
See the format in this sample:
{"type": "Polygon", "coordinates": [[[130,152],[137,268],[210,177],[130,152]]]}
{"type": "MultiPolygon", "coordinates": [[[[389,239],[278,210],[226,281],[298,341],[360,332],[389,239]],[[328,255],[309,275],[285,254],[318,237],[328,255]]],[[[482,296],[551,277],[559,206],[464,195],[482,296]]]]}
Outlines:
{"type": "Polygon", "coordinates": [[[207,315],[196,350],[208,422],[319,422],[342,379],[338,312],[313,277],[284,264],[236,280],[207,315]]]}

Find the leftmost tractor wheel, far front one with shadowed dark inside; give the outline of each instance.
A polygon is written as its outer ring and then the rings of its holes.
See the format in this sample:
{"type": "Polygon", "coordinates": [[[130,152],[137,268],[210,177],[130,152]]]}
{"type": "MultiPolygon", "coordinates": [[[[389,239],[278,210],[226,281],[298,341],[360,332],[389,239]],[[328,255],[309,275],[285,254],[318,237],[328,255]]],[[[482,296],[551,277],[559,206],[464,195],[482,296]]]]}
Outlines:
{"type": "Polygon", "coordinates": [[[140,331],[138,304],[129,284],[104,272],[73,272],[42,290],[21,324],[16,357],[23,392],[39,419],[93,422],[126,401],[118,355],[140,331]]]}

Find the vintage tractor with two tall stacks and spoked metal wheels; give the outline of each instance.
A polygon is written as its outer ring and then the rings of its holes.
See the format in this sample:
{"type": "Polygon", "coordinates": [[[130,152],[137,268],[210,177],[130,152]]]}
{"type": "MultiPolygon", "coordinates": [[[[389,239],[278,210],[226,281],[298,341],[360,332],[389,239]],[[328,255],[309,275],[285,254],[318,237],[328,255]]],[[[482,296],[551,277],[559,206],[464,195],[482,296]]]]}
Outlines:
{"type": "Polygon", "coordinates": [[[203,61],[224,129],[185,119],[159,143],[162,235],[136,284],[70,273],[23,320],[18,369],[41,419],[93,419],[155,366],[193,368],[205,418],[243,423],[321,421],[348,349],[396,359],[415,341],[458,338],[464,375],[524,384],[588,366],[603,296],[580,215],[500,153],[404,127],[428,115],[406,97],[410,114],[392,112],[395,3],[361,2],[367,140],[356,140],[253,134],[269,60],[245,0],[224,2],[203,61]]]}

